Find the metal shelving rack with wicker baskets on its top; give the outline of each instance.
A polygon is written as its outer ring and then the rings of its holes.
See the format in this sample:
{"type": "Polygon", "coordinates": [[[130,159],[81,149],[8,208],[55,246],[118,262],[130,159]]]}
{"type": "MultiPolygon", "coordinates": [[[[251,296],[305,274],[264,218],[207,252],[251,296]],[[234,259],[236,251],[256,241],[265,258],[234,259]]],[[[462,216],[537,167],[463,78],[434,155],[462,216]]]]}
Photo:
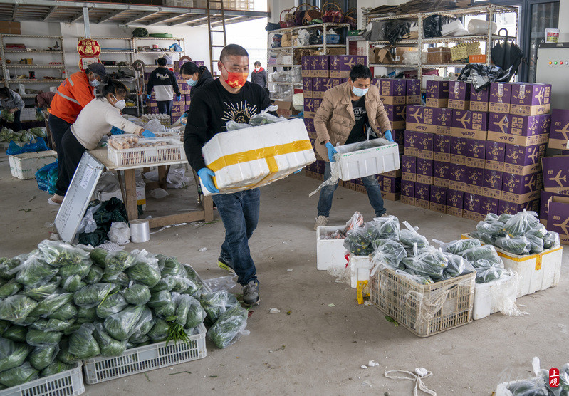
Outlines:
{"type": "MultiPolygon", "coordinates": [[[[276,68],[283,68],[284,69],[284,68],[300,68],[301,67],[301,65],[295,65],[295,64],[269,65],[268,60],[271,58],[271,52],[291,51],[291,55],[294,56],[294,50],[301,49],[301,48],[322,48],[324,53],[328,53],[328,48],[345,48],[345,53],[348,53],[348,46],[349,46],[348,40],[345,41],[345,44],[328,44],[328,43],[326,43],[326,40],[325,40],[325,32],[328,31],[329,28],[345,28],[346,31],[348,31],[349,26],[350,25],[348,25],[348,24],[315,24],[315,25],[306,25],[306,26],[294,26],[291,28],[281,28],[281,29],[269,31],[268,35],[267,35],[267,43],[268,43],[267,68],[273,68],[273,70],[274,70],[276,68]],[[322,40],[323,43],[322,44],[311,44],[308,46],[295,46],[294,45],[294,39],[292,38],[294,31],[298,31],[300,29],[313,29],[313,28],[316,28],[316,29],[319,29],[320,31],[323,31],[323,40],[322,40]],[[278,34],[291,33],[291,46],[271,48],[271,43],[269,42],[269,38],[271,36],[271,33],[278,33],[278,34]]],[[[295,86],[297,86],[297,87],[302,86],[302,82],[300,82],[300,83],[272,82],[271,84],[289,85],[291,87],[291,90],[294,90],[295,86]]],[[[271,98],[271,100],[273,100],[273,99],[274,98],[271,98]]]]}

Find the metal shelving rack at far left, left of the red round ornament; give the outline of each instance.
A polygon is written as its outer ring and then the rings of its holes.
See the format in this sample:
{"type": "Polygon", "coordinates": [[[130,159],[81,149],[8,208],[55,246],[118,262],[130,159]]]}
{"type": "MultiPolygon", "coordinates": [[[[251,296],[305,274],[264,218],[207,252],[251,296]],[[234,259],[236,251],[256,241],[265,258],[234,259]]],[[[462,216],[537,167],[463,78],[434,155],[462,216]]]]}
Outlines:
{"type": "MultiPolygon", "coordinates": [[[[57,41],[56,41],[57,42],[57,41]]],[[[8,55],[9,56],[9,55],[8,55]]],[[[63,56],[63,37],[62,36],[34,36],[26,34],[0,34],[0,57],[1,57],[1,67],[2,67],[2,83],[6,87],[10,88],[10,84],[51,84],[51,83],[61,83],[65,80],[67,75],[66,61],[63,56]],[[36,50],[28,48],[26,50],[7,50],[6,49],[6,38],[42,38],[49,40],[58,40],[58,45],[61,44],[61,50],[47,51],[47,50],[36,50]],[[61,56],[61,64],[54,65],[42,65],[42,64],[27,64],[27,63],[6,63],[6,54],[23,54],[31,56],[36,53],[53,53],[61,56]],[[19,68],[26,69],[55,69],[61,72],[60,78],[21,78],[21,79],[11,79],[10,69],[14,69],[14,73],[18,71],[19,68]]],[[[51,60],[53,61],[53,59],[51,60]]],[[[35,98],[37,94],[21,94],[22,98],[35,98]]]]}

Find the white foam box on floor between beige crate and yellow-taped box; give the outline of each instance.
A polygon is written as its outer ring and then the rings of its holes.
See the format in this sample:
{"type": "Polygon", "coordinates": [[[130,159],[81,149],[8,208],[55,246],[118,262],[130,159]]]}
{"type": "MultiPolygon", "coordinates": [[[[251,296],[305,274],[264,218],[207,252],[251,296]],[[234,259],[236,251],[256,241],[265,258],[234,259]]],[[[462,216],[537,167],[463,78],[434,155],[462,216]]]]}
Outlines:
{"type": "Polygon", "coordinates": [[[498,298],[515,302],[518,291],[517,279],[516,276],[508,275],[488,283],[476,283],[472,318],[476,321],[500,311],[498,298]]]}

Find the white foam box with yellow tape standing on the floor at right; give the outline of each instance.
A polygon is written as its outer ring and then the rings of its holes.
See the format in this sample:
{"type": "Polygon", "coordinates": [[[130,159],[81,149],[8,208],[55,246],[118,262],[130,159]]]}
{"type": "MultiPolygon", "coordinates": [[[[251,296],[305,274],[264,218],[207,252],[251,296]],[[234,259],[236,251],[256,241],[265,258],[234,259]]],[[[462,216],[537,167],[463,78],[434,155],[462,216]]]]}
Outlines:
{"type": "MultiPolygon", "coordinates": [[[[467,238],[470,238],[469,234],[462,235],[462,239],[467,238]]],[[[502,258],[504,268],[515,271],[520,276],[516,295],[518,298],[557,286],[559,283],[561,260],[563,259],[562,247],[524,256],[511,254],[500,248],[496,248],[496,251],[502,258]]]]}

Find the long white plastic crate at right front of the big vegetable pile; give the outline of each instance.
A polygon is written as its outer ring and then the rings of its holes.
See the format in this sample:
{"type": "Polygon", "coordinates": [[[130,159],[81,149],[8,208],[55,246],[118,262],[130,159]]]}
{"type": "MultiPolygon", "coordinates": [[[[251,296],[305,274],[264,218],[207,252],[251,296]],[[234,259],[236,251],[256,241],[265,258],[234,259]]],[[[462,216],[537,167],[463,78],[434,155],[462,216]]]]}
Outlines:
{"type": "Polygon", "coordinates": [[[98,384],[140,372],[165,368],[179,363],[202,359],[207,356],[206,328],[199,325],[199,333],[191,335],[189,342],[155,343],[127,349],[115,358],[93,358],[84,360],[85,383],[98,384]]]}

